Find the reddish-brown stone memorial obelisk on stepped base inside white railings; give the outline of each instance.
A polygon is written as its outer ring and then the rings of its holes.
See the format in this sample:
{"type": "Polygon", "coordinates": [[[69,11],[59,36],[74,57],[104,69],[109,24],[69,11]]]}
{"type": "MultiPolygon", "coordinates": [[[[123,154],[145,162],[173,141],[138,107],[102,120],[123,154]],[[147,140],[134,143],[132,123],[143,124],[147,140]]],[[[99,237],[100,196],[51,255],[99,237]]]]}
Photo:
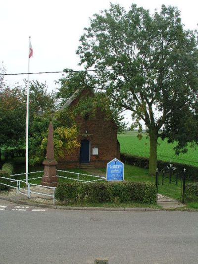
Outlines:
{"type": "Polygon", "coordinates": [[[54,149],[53,149],[53,125],[50,122],[48,128],[48,147],[46,160],[44,164],[44,176],[42,178],[41,185],[56,187],[58,183],[58,177],[56,176],[56,165],[57,161],[54,159],[54,149]]]}

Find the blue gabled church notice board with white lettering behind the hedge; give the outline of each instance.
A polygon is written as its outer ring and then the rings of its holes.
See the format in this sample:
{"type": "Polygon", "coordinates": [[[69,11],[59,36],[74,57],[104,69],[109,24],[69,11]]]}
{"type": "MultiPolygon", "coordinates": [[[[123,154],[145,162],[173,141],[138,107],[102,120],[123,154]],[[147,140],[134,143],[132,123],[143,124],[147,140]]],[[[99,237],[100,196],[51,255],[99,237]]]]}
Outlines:
{"type": "Polygon", "coordinates": [[[106,165],[107,181],[123,181],[124,180],[124,163],[117,158],[112,159],[106,165]]]}

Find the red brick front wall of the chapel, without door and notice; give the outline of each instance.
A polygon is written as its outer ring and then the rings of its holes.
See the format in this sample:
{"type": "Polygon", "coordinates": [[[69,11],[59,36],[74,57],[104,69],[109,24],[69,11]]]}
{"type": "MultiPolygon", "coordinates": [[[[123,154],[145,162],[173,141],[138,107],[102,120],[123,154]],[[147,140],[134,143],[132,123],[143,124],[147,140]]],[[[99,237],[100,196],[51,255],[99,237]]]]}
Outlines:
{"type": "MultiPolygon", "coordinates": [[[[79,128],[78,141],[80,142],[83,139],[90,141],[90,164],[96,167],[105,167],[111,159],[119,158],[117,127],[112,120],[105,120],[104,112],[98,109],[96,115],[88,119],[79,115],[76,117],[76,123],[79,128]],[[98,155],[92,154],[94,147],[98,148],[98,155]]],[[[64,159],[58,160],[58,168],[79,167],[79,158],[80,148],[70,155],[65,154],[64,159]]]]}

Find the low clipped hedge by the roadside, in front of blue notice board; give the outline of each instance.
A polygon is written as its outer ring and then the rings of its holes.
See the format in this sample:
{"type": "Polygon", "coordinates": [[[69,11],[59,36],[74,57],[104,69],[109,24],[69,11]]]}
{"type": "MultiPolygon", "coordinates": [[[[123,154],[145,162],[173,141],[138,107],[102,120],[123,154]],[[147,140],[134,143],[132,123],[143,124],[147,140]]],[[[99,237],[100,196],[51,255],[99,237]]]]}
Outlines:
{"type": "Polygon", "coordinates": [[[55,198],[65,202],[156,203],[156,187],[150,182],[59,183],[55,198]]]}

